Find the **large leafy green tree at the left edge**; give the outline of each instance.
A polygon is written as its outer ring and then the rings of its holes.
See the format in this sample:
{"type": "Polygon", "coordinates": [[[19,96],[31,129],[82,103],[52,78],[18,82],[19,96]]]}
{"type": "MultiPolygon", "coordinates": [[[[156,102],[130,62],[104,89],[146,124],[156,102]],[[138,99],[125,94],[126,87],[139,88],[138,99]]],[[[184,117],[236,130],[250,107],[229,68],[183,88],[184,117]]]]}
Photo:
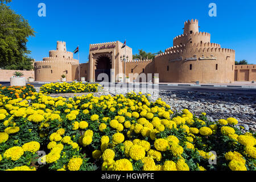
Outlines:
{"type": "Polygon", "coordinates": [[[21,15],[15,14],[6,3],[11,0],[0,0],[0,68],[32,69],[32,59],[27,55],[29,36],[35,31],[21,15]]]}

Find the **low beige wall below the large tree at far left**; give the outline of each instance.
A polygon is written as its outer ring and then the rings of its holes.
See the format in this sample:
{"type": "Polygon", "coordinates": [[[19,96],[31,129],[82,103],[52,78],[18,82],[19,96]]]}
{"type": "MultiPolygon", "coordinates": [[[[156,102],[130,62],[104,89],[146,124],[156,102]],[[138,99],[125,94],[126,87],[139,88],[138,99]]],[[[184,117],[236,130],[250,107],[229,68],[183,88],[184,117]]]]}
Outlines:
{"type": "Polygon", "coordinates": [[[28,79],[28,77],[33,77],[35,78],[35,73],[34,71],[21,71],[21,70],[7,70],[7,69],[0,69],[0,81],[10,81],[10,77],[13,76],[14,72],[22,72],[23,77],[28,79]]]}

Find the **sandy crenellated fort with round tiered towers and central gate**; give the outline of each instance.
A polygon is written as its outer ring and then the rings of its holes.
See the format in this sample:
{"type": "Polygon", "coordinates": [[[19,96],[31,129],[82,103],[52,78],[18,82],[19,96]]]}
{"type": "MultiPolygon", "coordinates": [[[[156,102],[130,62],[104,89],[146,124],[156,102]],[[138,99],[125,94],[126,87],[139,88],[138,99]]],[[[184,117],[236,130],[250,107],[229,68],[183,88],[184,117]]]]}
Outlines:
{"type": "Polygon", "coordinates": [[[174,38],[173,46],[153,60],[133,60],[133,50],[122,46],[119,41],[90,44],[88,63],[79,64],[73,53],[67,51],[66,43],[57,42],[49,57],[35,62],[35,80],[58,81],[64,74],[67,81],[80,80],[80,76],[94,82],[102,81],[101,73],[105,73],[108,78],[104,81],[117,82],[130,75],[130,81],[141,81],[141,73],[158,73],[160,82],[234,82],[235,51],[211,43],[209,33],[199,32],[196,19],[186,21],[183,34],[174,38]]]}

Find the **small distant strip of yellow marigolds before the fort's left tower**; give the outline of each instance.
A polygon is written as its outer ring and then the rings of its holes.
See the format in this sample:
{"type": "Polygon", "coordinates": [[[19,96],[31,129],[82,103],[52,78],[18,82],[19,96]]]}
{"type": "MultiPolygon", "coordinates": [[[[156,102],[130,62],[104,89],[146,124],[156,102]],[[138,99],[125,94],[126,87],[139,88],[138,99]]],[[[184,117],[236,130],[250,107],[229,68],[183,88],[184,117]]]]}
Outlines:
{"type": "Polygon", "coordinates": [[[82,82],[62,82],[50,83],[41,86],[40,93],[85,93],[85,92],[98,92],[102,89],[100,84],[82,84],[82,82]]]}

